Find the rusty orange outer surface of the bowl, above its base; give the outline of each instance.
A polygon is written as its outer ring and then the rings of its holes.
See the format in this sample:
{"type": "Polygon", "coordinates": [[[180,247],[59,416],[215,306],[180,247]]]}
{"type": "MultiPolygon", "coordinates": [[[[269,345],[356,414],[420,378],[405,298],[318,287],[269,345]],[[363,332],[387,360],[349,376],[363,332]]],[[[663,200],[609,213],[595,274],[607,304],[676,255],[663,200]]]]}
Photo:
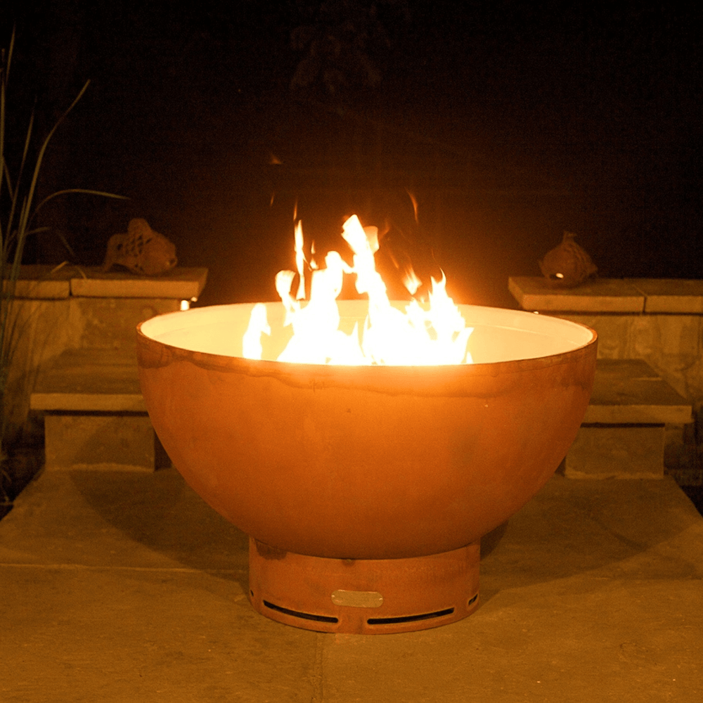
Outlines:
{"type": "Polygon", "coordinates": [[[593,341],[475,366],[306,367],[188,352],[138,333],[143,396],[186,481],[286,552],[389,559],[476,542],[574,441],[593,341]]]}

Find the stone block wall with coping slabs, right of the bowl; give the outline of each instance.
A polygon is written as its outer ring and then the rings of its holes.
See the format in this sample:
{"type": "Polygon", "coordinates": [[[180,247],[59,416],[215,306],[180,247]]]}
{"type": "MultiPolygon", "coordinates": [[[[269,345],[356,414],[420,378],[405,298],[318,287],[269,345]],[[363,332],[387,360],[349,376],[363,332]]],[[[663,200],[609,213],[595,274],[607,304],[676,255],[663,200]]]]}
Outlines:
{"type": "Polygon", "coordinates": [[[512,277],[508,288],[525,310],[593,328],[599,359],[642,359],[690,402],[695,424],[666,426],[666,467],[682,484],[703,484],[703,280],[601,278],[558,289],[512,277]]]}

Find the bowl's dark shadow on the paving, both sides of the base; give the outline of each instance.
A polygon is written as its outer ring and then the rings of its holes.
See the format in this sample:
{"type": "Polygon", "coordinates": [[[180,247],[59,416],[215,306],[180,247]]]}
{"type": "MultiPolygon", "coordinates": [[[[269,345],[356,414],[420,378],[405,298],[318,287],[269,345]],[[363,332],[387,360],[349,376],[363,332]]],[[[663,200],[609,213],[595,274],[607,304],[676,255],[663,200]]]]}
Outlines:
{"type": "MultiPolygon", "coordinates": [[[[247,536],[209,508],[176,470],[74,471],[71,481],[102,520],[131,540],[193,569],[221,568],[225,578],[247,588],[247,536]],[[241,572],[229,573],[233,568],[241,572]]],[[[694,508],[676,484],[667,483],[666,520],[644,521],[638,516],[651,514],[652,501],[662,500],[662,482],[624,481],[619,496],[613,497],[603,482],[555,476],[517,515],[484,537],[483,600],[496,588],[529,586],[583,572],[605,576],[617,571],[636,579],[671,574],[690,578],[695,564],[669,555],[666,543],[690,526],[694,508]],[[589,547],[594,542],[598,550],[589,547]],[[525,558],[530,553],[534,560],[525,558]],[[537,554],[542,556],[537,559],[537,554]]]]}

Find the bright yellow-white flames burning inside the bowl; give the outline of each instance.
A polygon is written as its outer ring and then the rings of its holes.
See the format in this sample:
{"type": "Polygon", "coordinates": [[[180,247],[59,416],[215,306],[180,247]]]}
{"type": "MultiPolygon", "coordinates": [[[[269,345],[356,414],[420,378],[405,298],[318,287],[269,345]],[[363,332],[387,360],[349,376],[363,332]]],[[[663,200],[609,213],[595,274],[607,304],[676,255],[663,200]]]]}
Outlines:
{"type": "MultiPolygon", "coordinates": [[[[329,364],[385,364],[388,366],[430,366],[434,364],[472,363],[467,343],[473,328],[446,293],[446,278],[432,278],[429,304],[411,300],[401,310],[388,299],[385,283],[376,271],[374,255],[378,251],[378,228],[363,227],[356,215],[342,227],[342,237],[354,252],[349,266],[337,252],[325,257],[325,268],[312,261],[310,299],[305,297],[305,256],[302,226],[295,227],[295,261],[298,271],[297,292],[292,295],[294,271],[279,271],[276,292],[285,308],[284,326],[293,335],[278,361],[329,364]],[[340,330],[337,297],[342,291],[344,275],[356,275],[356,290],[368,296],[368,315],[351,334],[340,330]]],[[[406,271],[406,288],[415,293],[420,280],[406,271]]],[[[266,307],[257,304],[243,337],[243,356],[262,358],[262,335],[270,335],[266,307]]]]}

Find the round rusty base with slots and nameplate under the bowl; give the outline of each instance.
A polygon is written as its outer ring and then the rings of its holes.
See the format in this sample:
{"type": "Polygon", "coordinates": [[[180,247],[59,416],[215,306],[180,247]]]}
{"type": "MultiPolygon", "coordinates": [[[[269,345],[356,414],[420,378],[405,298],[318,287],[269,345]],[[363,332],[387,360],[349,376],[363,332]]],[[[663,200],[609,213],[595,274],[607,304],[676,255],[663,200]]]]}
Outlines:
{"type": "Polygon", "coordinates": [[[327,559],[250,538],[249,600],[266,617],[318,632],[439,627],[478,606],[479,543],[425,557],[327,559]]]}

